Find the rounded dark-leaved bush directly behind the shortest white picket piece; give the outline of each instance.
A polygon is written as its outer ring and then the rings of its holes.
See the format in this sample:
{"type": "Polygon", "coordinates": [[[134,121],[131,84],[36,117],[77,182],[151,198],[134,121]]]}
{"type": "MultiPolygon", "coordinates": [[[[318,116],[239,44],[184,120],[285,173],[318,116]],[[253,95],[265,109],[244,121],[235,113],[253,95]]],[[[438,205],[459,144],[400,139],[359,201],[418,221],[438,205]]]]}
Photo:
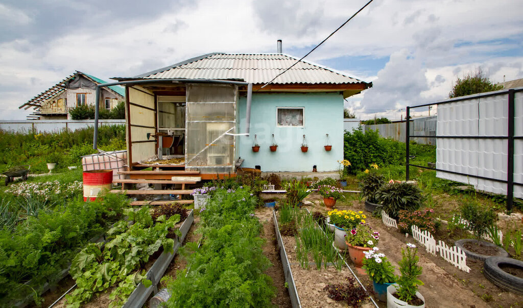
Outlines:
{"type": "Polygon", "coordinates": [[[424,199],[423,192],[407,182],[386,184],[376,193],[376,200],[383,205],[383,211],[393,219],[397,219],[401,210],[419,209],[424,199]]]}

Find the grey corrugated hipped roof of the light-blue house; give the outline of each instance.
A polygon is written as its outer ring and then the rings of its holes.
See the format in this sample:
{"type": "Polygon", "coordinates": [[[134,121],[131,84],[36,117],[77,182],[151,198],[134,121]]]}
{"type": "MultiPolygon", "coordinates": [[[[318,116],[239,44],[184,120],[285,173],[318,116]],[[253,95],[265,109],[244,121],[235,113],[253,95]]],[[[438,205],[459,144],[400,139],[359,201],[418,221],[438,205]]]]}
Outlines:
{"type": "MultiPolygon", "coordinates": [[[[211,53],[135,77],[243,79],[248,83],[265,84],[298,60],[294,56],[279,53],[211,53]]],[[[329,67],[302,60],[272,83],[357,84],[365,82],[329,67]]]]}

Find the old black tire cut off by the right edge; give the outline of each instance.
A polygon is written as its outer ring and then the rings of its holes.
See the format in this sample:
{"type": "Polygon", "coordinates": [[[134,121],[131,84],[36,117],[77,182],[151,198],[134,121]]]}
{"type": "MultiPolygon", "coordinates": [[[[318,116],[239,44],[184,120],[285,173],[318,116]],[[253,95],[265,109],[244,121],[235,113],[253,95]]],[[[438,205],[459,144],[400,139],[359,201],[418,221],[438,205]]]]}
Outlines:
{"type": "Polygon", "coordinates": [[[503,265],[523,270],[523,261],[507,257],[490,257],[485,260],[483,274],[499,288],[523,295],[523,278],[510,275],[499,267],[503,265]]]}

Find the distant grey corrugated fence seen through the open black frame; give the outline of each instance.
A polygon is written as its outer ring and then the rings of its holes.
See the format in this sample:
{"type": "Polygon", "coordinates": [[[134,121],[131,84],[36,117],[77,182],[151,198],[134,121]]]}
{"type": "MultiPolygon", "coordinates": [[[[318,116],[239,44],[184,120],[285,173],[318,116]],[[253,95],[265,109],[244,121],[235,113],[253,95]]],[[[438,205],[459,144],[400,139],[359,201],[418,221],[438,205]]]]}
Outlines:
{"type": "MultiPolygon", "coordinates": [[[[437,117],[425,117],[411,120],[411,135],[436,136],[437,117]]],[[[389,124],[362,125],[364,132],[368,130],[378,130],[383,138],[405,142],[405,122],[395,122],[389,124]]],[[[419,144],[436,145],[436,138],[411,138],[419,144]]]]}

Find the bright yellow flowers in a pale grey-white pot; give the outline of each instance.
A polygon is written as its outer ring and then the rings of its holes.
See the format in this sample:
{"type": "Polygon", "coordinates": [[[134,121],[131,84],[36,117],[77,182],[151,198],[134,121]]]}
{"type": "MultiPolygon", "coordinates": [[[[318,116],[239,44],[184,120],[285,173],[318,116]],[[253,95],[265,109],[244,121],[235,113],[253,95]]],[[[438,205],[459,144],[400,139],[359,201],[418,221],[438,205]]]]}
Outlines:
{"type": "Polygon", "coordinates": [[[329,223],[334,225],[334,244],[342,250],[347,250],[345,244],[346,230],[354,229],[359,223],[365,223],[367,216],[362,211],[332,210],[327,212],[329,223]]]}

